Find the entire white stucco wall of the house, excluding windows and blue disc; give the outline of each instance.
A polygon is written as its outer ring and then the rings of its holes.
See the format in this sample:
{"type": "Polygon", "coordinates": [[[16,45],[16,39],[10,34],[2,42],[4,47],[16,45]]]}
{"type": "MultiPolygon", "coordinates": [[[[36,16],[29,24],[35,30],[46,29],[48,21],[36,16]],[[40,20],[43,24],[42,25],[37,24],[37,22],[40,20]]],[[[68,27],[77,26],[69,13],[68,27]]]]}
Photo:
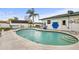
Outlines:
{"type": "MultiPolygon", "coordinates": [[[[79,16],[70,16],[69,20],[79,20],[79,16]]],[[[61,18],[52,18],[52,19],[46,19],[46,20],[42,20],[43,23],[47,24],[48,29],[53,29],[52,28],[52,22],[58,22],[59,23],[59,27],[58,29],[60,30],[68,30],[68,24],[69,24],[69,30],[73,30],[73,31],[79,31],[79,23],[68,23],[68,17],[61,17],[61,18]],[[51,20],[51,24],[47,24],[47,20],[51,20]],[[62,21],[65,20],[66,21],[66,25],[62,25],[62,21]]]]}

